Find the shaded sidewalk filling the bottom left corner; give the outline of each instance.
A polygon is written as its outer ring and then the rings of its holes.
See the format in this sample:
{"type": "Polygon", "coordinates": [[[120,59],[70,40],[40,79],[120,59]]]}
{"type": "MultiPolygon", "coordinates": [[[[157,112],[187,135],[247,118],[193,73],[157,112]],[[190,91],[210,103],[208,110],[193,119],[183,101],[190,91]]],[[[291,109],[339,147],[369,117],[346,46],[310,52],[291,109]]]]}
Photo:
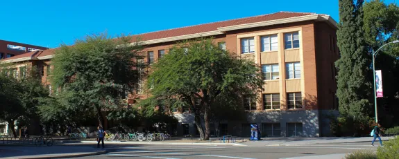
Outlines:
{"type": "Polygon", "coordinates": [[[94,147],[7,147],[0,146],[1,158],[74,158],[106,153],[94,147]]]}

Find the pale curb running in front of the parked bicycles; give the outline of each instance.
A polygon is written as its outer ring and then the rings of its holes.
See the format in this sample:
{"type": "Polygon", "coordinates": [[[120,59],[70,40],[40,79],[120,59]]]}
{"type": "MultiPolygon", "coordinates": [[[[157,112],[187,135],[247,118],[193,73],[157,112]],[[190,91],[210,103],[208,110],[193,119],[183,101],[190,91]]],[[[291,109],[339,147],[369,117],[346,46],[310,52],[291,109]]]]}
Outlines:
{"type": "MultiPolygon", "coordinates": [[[[82,143],[97,143],[96,141],[80,141],[82,143]]],[[[158,145],[209,145],[209,146],[240,146],[246,147],[245,144],[237,143],[176,143],[176,142],[108,142],[112,144],[158,144],[158,145]]]]}

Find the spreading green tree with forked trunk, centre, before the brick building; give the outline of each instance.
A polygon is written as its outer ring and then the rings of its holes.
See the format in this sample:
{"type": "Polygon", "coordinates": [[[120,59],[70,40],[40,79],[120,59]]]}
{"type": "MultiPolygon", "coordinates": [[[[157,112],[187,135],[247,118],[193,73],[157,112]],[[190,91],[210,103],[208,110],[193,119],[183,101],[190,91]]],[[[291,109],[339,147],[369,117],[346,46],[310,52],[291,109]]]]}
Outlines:
{"type": "Polygon", "coordinates": [[[263,82],[258,66],[218,48],[212,39],[174,46],[153,64],[152,71],[147,81],[149,92],[158,99],[174,97],[191,105],[203,140],[210,137],[210,112],[216,101],[228,95],[233,103],[242,104],[243,97],[256,97],[263,82]],[[196,99],[198,104],[194,104],[196,99]]]}

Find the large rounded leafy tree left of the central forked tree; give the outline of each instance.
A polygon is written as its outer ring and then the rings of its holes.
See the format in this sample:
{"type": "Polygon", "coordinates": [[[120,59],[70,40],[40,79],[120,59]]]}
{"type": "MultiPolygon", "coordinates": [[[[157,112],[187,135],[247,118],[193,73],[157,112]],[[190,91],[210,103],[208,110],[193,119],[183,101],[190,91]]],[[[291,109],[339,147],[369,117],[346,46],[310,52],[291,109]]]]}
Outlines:
{"type": "Polygon", "coordinates": [[[103,112],[126,106],[126,93],[137,88],[142,73],[133,59],[141,58],[142,44],[129,37],[110,38],[106,33],[62,44],[52,59],[52,83],[65,86],[69,106],[94,112],[103,126],[103,112]]]}

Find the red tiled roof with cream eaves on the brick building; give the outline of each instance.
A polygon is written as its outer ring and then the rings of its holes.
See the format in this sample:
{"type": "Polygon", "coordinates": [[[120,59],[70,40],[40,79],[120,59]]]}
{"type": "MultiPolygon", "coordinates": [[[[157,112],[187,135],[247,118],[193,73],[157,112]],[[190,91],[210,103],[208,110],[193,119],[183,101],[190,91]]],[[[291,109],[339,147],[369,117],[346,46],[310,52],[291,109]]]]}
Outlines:
{"type": "MultiPolygon", "coordinates": [[[[332,26],[337,24],[337,22],[335,22],[334,19],[331,19],[328,15],[319,15],[310,12],[275,12],[268,15],[218,21],[209,24],[199,24],[196,26],[187,26],[182,28],[148,32],[141,35],[133,35],[132,42],[135,42],[135,39],[139,37],[144,44],[156,44],[165,41],[177,41],[181,39],[219,35],[228,30],[238,30],[241,28],[253,28],[258,26],[270,26],[275,24],[309,20],[330,21],[332,26]]],[[[32,57],[32,59],[50,59],[54,54],[54,50],[55,49],[48,49],[24,53],[22,55],[2,59],[1,61],[19,62],[28,59],[28,57],[32,57]]]]}

